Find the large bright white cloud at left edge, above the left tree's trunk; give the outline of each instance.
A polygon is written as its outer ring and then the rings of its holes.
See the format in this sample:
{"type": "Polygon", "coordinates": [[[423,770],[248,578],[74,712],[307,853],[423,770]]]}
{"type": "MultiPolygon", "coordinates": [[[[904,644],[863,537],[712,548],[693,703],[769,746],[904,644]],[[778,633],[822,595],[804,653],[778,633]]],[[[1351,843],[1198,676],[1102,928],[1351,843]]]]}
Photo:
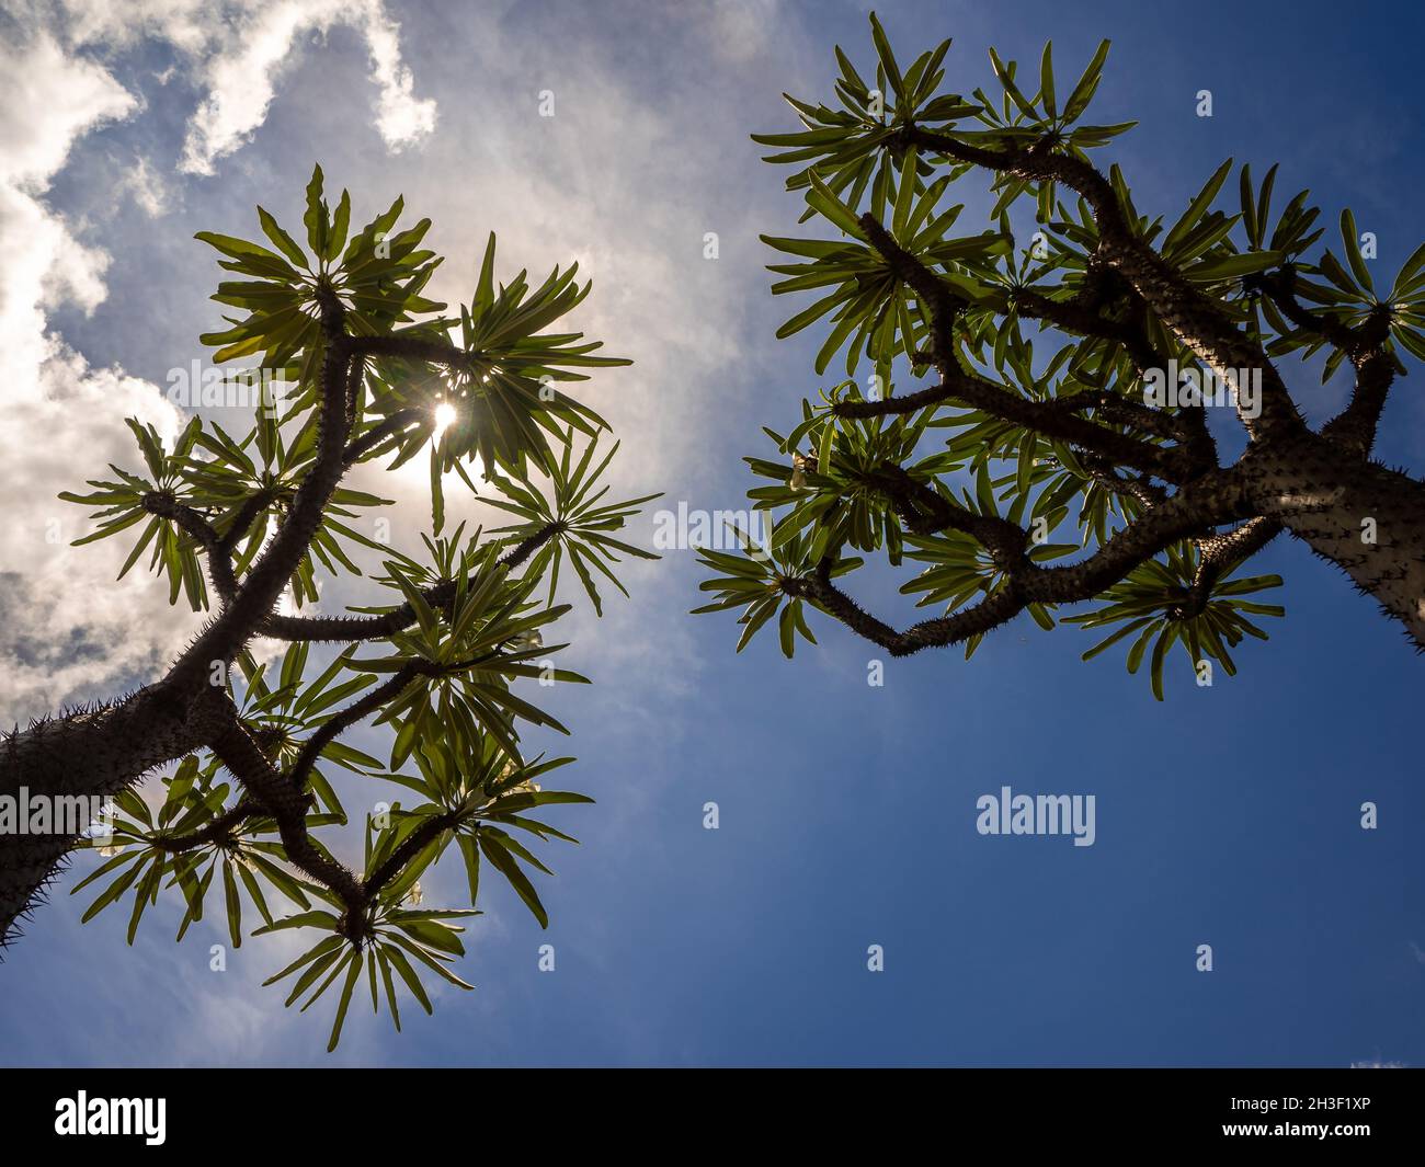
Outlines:
{"type": "Polygon", "coordinates": [[[56,499],[107,460],[128,460],[124,416],[167,430],[175,420],[154,386],[90,369],[46,326],[47,309],[98,306],[108,256],[77,239],[43,194],[76,140],[134,105],[103,68],[47,34],[0,48],[0,497],[9,527],[0,700],[14,720],[151,667],[162,653],[158,630],[172,630],[157,618],[151,588],[114,586],[118,547],[86,554],[67,546],[81,533],[80,512],[56,499]]]}

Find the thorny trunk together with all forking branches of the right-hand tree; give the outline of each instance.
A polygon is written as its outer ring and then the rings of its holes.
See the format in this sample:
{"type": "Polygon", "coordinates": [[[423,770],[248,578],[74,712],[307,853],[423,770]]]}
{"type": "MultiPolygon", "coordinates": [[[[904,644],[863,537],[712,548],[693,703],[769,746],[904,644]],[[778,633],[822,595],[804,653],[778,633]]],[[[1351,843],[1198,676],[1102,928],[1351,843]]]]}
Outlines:
{"type": "Polygon", "coordinates": [[[896,631],[832,583],[838,554],[832,549],[809,573],[778,581],[787,596],[814,603],[892,655],[906,655],[983,634],[1032,603],[1093,598],[1184,539],[1197,547],[1198,569],[1183,613],[1196,614],[1221,574],[1288,530],[1345,570],[1359,590],[1377,596],[1416,647],[1425,648],[1425,484],[1371,459],[1395,376],[1384,351],[1388,309],[1348,328],[1302,308],[1292,295],[1290,272],[1248,281],[1248,291],[1270,295],[1294,323],[1347,352],[1357,370],[1348,406],[1312,432],[1263,345],[1136,234],[1113,184],[1092,164],[1054,152],[1047,141],[993,150],[913,124],[901,134],[903,144],[952,162],[1059,182],[1089,205],[1099,245],[1083,286],[1069,299],[1019,289],[1005,311],[1117,346],[1140,375],[1167,368],[1146,326],[1157,319],[1220,375],[1261,369],[1263,408],[1257,417],[1240,410],[1247,449],[1234,465],[1223,466],[1203,405],[1173,413],[1113,390],[1035,400],[995,383],[969,362],[956,336],[970,301],[865,214],[859,227],[866,241],[928,312],[931,349],[915,359],[933,365],[939,382],[905,396],[838,402],[832,415],[865,419],[911,415],[942,403],[970,408],[1067,443],[1094,479],[1133,496],[1139,514],[1082,561],[1040,567],[1026,554],[1027,529],[975,514],[946,497],[938,483],[918,482],[901,466],[886,465],[869,482],[901,516],[903,529],[919,536],[946,530],[972,536],[999,569],[999,584],[969,607],[896,631]],[[1127,315],[1112,313],[1114,301],[1127,304],[1127,315]],[[1124,470],[1131,473],[1120,473],[1124,470]],[[1367,519],[1379,524],[1381,537],[1374,543],[1361,539],[1367,519]]]}

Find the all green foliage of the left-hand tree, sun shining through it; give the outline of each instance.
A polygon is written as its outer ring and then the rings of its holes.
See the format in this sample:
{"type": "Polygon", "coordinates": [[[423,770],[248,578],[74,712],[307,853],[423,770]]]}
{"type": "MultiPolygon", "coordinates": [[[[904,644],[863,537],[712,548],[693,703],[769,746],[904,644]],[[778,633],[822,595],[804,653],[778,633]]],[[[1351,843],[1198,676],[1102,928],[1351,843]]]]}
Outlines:
{"type": "Polygon", "coordinates": [[[86,919],[131,902],[130,943],[164,888],[177,888],[181,896],[182,939],[204,918],[219,875],[227,930],[235,946],[245,932],[315,933],[306,952],[268,983],[294,977],[288,1003],[302,999],[302,1009],[339,986],[332,1047],[362,965],[373,1007],[385,999],[398,1029],[398,985],[405,985],[426,1012],[432,1007],[422,983],[428,973],[469,987],[449,968],[463,953],[453,920],[477,913],[482,861],[510,885],[540,926],[547,925],[526,868],[544,873],[549,868],[520,838],[573,839],[526,812],[591,799],[540,789],[542,775],[571,759],[526,759],[522,730],[567,730],[526,700],[519,683],[584,683],[550,663],[549,657],[566,645],[544,643],[549,627],[570,610],[556,603],[566,554],[596,611],[601,610],[596,576],[623,590],[611,564],[621,556],[656,559],[617,533],[640,504],[657,496],[608,500],[601,477],[617,445],[600,456],[596,446],[603,420],[554,388],[587,379],[593,368],[628,363],[594,355],[600,345],[581,333],[551,331],[589,294],[587,284],[576,284],[577,268],[556,269],[537,286],[524,272],[497,284],[492,235],[473,298],[457,316],[447,318],[440,315],[443,304],[425,296],[440,262],[420,245],[430,224],[422,219],[398,229],[402,208],[398,198],[352,234],[348,192],[331,208],[318,168],[306,190],[305,248],[262,208],[258,218],[269,245],[200,234],[224,255],[221,266],[242,276],[221,284],[215,299],[245,312],[228,318],[229,328],[204,342],[218,348],[217,362],[259,359],[265,369],[295,382],[295,395],[282,400],[281,412],[259,406],[245,435],[194,417],[172,449],[154,426],[130,422],[144,473],[111,467],[113,479],[91,482],[88,493],[63,496],[97,509],[97,530],[78,541],[135,529],[138,540],[123,571],[148,550],[150,567],[168,580],[172,603],[185,594],[195,610],[207,607],[204,556],[212,551],[212,540],[219,541],[219,554],[231,556],[241,587],[269,533],[289,516],[314,465],[326,348],[323,308],[339,302],[352,336],[423,346],[406,346],[405,356],[395,356],[395,346],[386,345],[363,361],[361,379],[348,386],[353,410],[348,439],[361,440],[385,425],[389,436],[363,443],[361,459],[393,455],[388,469],[429,447],[433,529],[422,534],[425,554],[406,554],[366,534],[369,510],[390,500],[339,486],[288,588],[296,604],[314,601],[323,580],[361,574],[358,560],[375,559],[380,569],[368,563],[366,570],[390,598],[352,611],[370,616],[399,608],[409,610],[413,620],[400,631],[348,644],[335,654],[294,643],[271,667],[258,663],[249,645],[238,657],[241,667],[225,678],[242,724],[275,772],[285,779],[299,777],[312,795],[305,825],[319,854],[332,856],[319,832],[348,822],[333,767],[346,771],[348,781],[355,777],[419,795],[409,808],[396,802],[389,812],[366,815],[361,875],[372,881],[366,919],[353,926],[346,919],[351,906],[291,862],[275,819],[259,812],[249,792],[221,777],[224,771],[208,751],[185,757],[155,784],[117,798],[111,831],[87,842],[103,851],[103,862],[80,883],[101,888],[86,919]],[[455,355],[443,363],[416,359],[436,349],[455,355]],[[437,416],[440,405],[449,406],[453,417],[437,416]],[[399,425],[389,425],[398,415],[399,425]],[[467,531],[460,523],[442,534],[442,479],[450,472],[482,502],[517,522],[489,534],[467,531]],[[494,497],[487,493],[492,490],[494,497]],[[150,496],[161,496],[161,504],[150,496]],[[175,506],[185,507],[211,534],[197,537],[174,516],[154,513],[175,506]],[[526,541],[537,546],[526,547],[516,564],[510,556],[526,541]],[[402,684],[379,694],[379,708],[375,702],[369,708],[375,724],[390,735],[389,758],[372,757],[331,732],[338,727],[345,731],[356,720],[346,717],[351,707],[398,674],[402,684]],[[343,720],[329,727],[332,718],[343,720]],[[311,758],[316,734],[322,734],[322,745],[311,758]],[[439,822],[432,825],[432,816],[439,822]],[[425,842],[416,846],[412,832],[423,828],[429,838],[422,835],[425,842]],[[410,848],[416,849],[408,854],[410,848]],[[469,908],[420,906],[419,881],[446,854],[459,856],[469,908]],[[259,925],[255,930],[254,920],[259,925]]]}

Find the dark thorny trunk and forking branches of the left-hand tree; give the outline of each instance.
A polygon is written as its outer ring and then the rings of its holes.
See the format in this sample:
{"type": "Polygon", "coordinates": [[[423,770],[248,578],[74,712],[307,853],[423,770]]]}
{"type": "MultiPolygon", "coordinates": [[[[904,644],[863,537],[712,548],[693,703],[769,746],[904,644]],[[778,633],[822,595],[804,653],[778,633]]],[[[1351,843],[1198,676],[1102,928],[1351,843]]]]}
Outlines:
{"type": "MultiPolygon", "coordinates": [[[[157,683],[111,707],[83,715],[44,721],[11,735],[0,751],[4,762],[0,791],[10,787],[36,794],[60,794],[83,785],[86,792],[117,794],[134,781],[175,758],[209,750],[241,787],[238,802],[202,829],[187,835],[158,834],[152,845],[170,854],[201,846],[232,846],[238,832],[254,818],[275,822],[288,861],[315,883],[326,888],[345,908],[343,930],[353,943],[368,936],[368,909],[400,873],[409,859],[447,829],[457,829],[467,815],[449,812],[428,818],[398,852],[376,871],[356,875],[318,845],[306,828],[312,806],[308,779],[322,751],[341,734],[399,700],[423,678],[453,675],[477,668],[490,654],[449,665],[413,660],[385,684],[339,710],[304,742],[295,762],[279,769],[264,748],[265,731],[248,724],[225,684],[242,648],[255,637],[288,641],[370,641],[390,637],[416,623],[408,601],[370,617],[288,617],[275,608],[292,573],[311,546],[323,512],[345,473],[359,460],[398,436],[419,410],[399,410],[365,433],[352,435],[351,380],[362,376],[368,358],[400,358],[463,368],[469,356],[453,346],[400,336],[352,336],[345,331],[343,309],[332,299],[322,312],[326,345],[318,403],[316,455],[274,536],[239,580],[235,549],[271,499],[255,496],[244,504],[231,529],[219,534],[209,519],[170,492],[152,492],[144,509],[174,523],[202,550],[221,607],[214,620],[157,683]]],[[[550,539],[561,533],[553,523],[512,544],[492,570],[509,573],[550,539]]],[[[423,588],[425,601],[449,613],[456,580],[423,588]]],[[[53,879],[57,866],[78,836],[0,839],[7,854],[0,862],[0,940],[14,935],[17,918],[33,905],[53,879]]]]}

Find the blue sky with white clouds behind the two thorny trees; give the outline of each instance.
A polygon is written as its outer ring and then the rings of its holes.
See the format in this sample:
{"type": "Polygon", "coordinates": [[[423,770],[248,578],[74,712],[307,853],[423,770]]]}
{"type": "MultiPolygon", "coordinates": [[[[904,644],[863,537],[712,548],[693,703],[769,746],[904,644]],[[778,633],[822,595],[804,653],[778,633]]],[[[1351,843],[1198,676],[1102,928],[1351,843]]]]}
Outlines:
{"type": "MultiPolygon", "coordinates": [[[[817,329],[774,339],[789,308],[767,292],[757,234],[792,234],[799,208],[747,135],[792,127],[782,90],[828,95],[832,44],[865,60],[866,6],[388,3],[365,24],[299,31],[271,105],[237,137],[241,94],[218,101],[224,67],[258,33],[242,40],[239,21],[229,40],[205,40],[184,21],[201,27],[207,6],[151,7],[154,23],[127,34],[103,6],[0,17],[7,56],[50,70],[6,83],[0,141],[23,164],[6,171],[0,231],[31,247],[16,268],[30,284],[6,301],[6,335],[28,329],[34,352],[20,383],[56,410],[20,402],[28,420],[16,425],[38,429],[20,435],[4,483],[7,500],[28,500],[16,504],[27,539],[0,560],[11,720],[140,683],[181,643],[161,597],[113,588],[113,564],[37,531],[50,516],[77,522],[53,493],[131,462],[120,419],[158,409],[165,370],[202,356],[217,269],[192,232],[249,234],[259,201],[296,218],[314,161],[352,188],[358,214],[405,192],[415,217],[435,219],[450,299],[469,295],[487,229],[510,264],[577,256],[594,278],[580,323],[637,362],[590,393],[624,437],[618,484],[663,490],[667,504],[742,506],[741,457],[767,455],[762,425],[799,416],[819,343],[817,329]],[[178,31],[162,31],[165,7],[178,31]],[[373,81],[392,21],[399,64],[373,81]],[[46,76],[83,83],[66,85],[70,105],[46,76]],[[536,113],[544,88],[553,118],[536,113]],[[703,256],[708,231],[715,261],[703,256]],[[74,651],[38,658],[56,636],[74,651]]],[[[1176,217],[1226,157],[1254,172],[1280,161],[1278,195],[1310,187],[1324,221],[1349,205],[1377,232],[1379,272],[1421,239],[1425,142],[1405,108],[1414,9],[878,10],[902,54],[953,36],[965,90],[990,78],[990,44],[1035,61],[1053,38],[1069,74],[1112,38],[1097,120],[1140,121],[1110,157],[1141,208],[1176,217]],[[1211,118],[1194,114],[1201,88],[1211,118]]],[[[970,212],[988,205],[980,190],[963,195],[970,212]]],[[[1378,445],[1414,473],[1419,376],[1396,389],[1378,445]]],[[[1288,378],[1314,420],[1345,392],[1318,379],[1288,378]]],[[[396,489],[412,541],[422,474],[396,489]]],[[[547,933],[489,886],[462,968],[476,993],[443,993],[433,1019],[403,1010],[402,1034],[353,1009],[328,1056],[329,1006],[298,1016],[259,987],[289,959],[274,945],[251,940],[211,973],[208,945],[222,938],[195,929],[172,945],[170,905],[128,949],[127,913],[78,923],[88,896],[66,893],[71,875],[0,970],[0,1059],[1422,1064],[1425,792],[1409,761],[1421,663],[1304,547],[1280,541],[1258,564],[1287,580],[1271,641],[1244,645],[1240,675],[1211,688],[1178,661],[1160,704],[1121,654],[1083,664],[1084,634],[1029,621],[969,663],[955,650],[891,661],[881,688],[866,684],[876,654],[828,621],[794,663],[768,636],[734,655],[731,617],[685,616],[700,571],[691,551],[671,551],[627,573],[633,601],[616,597],[600,623],[573,617],[567,664],[596,684],[550,702],[571,741],[533,741],[576,754],[566,784],[597,805],[556,819],[583,845],[544,854],[557,872],[542,883],[547,933]],[[1094,845],[978,835],[975,801],[1002,785],[1096,795],[1094,845]],[[717,831],[703,828],[708,801],[717,831]],[[1379,806],[1375,831],[1361,829],[1365,801],[1379,806]],[[542,943],[556,948],[551,973],[537,969],[542,943]],[[881,973],[866,968],[874,943],[881,973]],[[1201,943],[1211,973],[1196,970],[1201,943]]],[[[862,594],[905,623],[892,584],[862,594]]],[[[346,791],[349,805],[378,797],[346,791]]],[[[453,902],[460,881],[437,875],[428,899],[453,902]]]]}

